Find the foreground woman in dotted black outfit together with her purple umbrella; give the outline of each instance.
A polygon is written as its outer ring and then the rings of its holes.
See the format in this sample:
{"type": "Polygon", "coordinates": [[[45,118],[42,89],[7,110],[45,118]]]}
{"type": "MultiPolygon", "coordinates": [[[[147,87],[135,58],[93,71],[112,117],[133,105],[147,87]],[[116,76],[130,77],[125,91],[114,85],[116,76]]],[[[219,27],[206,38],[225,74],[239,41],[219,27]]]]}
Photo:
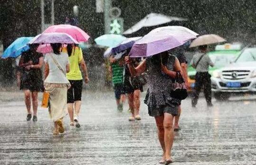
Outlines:
{"type": "Polygon", "coordinates": [[[163,151],[159,162],[161,164],[172,163],[173,120],[178,114],[178,106],[181,102],[180,96],[172,95],[178,85],[175,79],[182,77],[180,62],[167,51],[193,38],[196,38],[196,35],[187,32],[152,31],[136,41],[129,56],[125,57],[132,76],[138,76],[147,70],[149,88],[144,103],[148,105],[148,113],[155,118],[157,125],[158,139],[163,151]],[[146,57],[146,59],[135,68],[131,64],[131,57],[146,57]]]}

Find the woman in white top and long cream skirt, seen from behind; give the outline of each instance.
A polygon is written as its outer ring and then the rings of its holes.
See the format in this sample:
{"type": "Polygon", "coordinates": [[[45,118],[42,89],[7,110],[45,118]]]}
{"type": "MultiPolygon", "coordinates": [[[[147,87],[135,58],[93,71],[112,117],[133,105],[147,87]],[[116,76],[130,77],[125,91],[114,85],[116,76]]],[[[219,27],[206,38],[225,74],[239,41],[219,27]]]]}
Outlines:
{"type": "Polygon", "coordinates": [[[64,132],[63,117],[67,114],[67,89],[70,87],[66,78],[69,72],[68,55],[61,52],[61,43],[51,43],[53,53],[45,55],[45,90],[49,92],[49,113],[54,122],[53,134],[64,132]]]}

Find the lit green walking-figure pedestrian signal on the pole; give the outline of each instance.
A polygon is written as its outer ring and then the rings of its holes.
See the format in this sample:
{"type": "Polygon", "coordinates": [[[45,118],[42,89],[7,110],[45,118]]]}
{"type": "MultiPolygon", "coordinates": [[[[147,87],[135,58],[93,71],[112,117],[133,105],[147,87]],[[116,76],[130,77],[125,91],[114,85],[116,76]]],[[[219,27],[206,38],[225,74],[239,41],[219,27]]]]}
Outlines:
{"type": "Polygon", "coordinates": [[[110,34],[123,34],[123,18],[111,18],[110,20],[110,34]]]}

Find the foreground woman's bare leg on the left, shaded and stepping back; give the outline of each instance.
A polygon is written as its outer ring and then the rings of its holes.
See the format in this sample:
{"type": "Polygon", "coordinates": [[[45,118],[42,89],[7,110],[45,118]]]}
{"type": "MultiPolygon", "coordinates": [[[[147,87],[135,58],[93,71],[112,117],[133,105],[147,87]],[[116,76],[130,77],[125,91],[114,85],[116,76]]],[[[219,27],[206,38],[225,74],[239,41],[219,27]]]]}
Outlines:
{"type": "Polygon", "coordinates": [[[164,127],[163,127],[163,121],[164,121],[164,116],[157,116],[155,117],[156,121],[156,126],[157,126],[157,133],[158,133],[158,139],[161,144],[161,148],[163,150],[163,157],[162,161],[166,159],[165,157],[165,142],[164,142],[164,127]]]}

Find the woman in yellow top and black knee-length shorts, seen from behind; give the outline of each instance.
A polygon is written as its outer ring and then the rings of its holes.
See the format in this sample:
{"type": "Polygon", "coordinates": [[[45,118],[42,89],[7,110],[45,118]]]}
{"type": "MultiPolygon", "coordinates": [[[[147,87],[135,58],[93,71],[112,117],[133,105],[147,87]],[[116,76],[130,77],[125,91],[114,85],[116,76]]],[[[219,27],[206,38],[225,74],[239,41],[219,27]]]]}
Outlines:
{"type": "Polygon", "coordinates": [[[67,54],[70,62],[70,70],[66,74],[66,78],[71,84],[71,87],[67,90],[67,109],[70,117],[70,125],[74,126],[76,124],[76,128],[79,128],[78,115],[81,108],[83,88],[83,77],[79,65],[83,70],[86,84],[89,82],[89,78],[82,50],[78,46],[68,44],[67,54]]]}

